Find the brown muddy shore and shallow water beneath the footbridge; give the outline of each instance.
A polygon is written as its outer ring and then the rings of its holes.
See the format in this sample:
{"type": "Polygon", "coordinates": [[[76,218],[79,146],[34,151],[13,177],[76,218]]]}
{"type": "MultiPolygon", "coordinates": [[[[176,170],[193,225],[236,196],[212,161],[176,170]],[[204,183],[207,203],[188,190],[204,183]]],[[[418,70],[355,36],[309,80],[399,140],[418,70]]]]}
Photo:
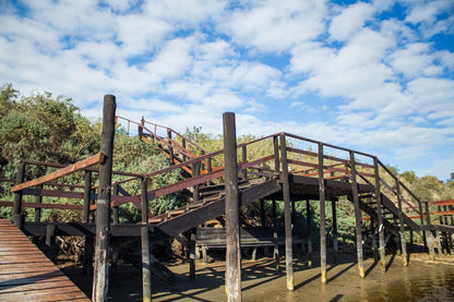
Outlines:
{"type": "MultiPolygon", "coordinates": [[[[366,278],[360,279],[355,256],[339,254],[327,266],[327,283],[320,281],[319,258],[295,258],[295,291],[286,289],[285,259],[276,271],[272,258],[242,262],[243,301],[454,301],[454,256],[430,261],[427,254],[411,254],[408,267],[398,255],[386,255],[386,271],[369,257],[366,278]],[[311,265],[312,264],[312,265],[311,265]],[[440,286],[438,286],[440,285],[440,286]]],[[[189,263],[167,263],[177,280],[174,285],[154,278],[153,301],[225,301],[225,262],[196,263],[196,278],[189,279],[189,263]]],[[[87,294],[91,278],[80,267],[67,265],[64,273],[87,294]]],[[[141,301],[141,274],[121,265],[111,277],[109,301],[141,301]]]]}

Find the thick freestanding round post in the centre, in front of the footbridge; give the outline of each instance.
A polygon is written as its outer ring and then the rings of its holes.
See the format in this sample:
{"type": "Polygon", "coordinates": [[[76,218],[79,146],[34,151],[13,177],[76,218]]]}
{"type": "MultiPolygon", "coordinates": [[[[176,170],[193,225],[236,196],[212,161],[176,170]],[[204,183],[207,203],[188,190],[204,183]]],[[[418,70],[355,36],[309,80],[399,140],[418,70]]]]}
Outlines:
{"type": "Polygon", "coordinates": [[[241,301],[241,246],[237,171],[237,134],[235,113],[223,114],[226,181],[226,292],[227,301],[241,301]]]}

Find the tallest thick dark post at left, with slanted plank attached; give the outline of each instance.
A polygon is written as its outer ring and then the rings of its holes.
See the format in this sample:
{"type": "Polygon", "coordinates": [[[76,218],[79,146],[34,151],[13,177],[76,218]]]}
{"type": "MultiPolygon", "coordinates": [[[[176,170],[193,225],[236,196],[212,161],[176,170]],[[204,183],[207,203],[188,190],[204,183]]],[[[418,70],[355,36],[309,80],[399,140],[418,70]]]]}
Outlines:
{"type": "Polygon", "coordinates": [[[109,237],[110,237],[110,183],[115,136],[115,96],[104,96],[103,134],[100,152],[105,160],[99,165],[98,200],[96,201],[96,252],[93,277],[93,301],[107,301],[109,283],[109,237]]]}

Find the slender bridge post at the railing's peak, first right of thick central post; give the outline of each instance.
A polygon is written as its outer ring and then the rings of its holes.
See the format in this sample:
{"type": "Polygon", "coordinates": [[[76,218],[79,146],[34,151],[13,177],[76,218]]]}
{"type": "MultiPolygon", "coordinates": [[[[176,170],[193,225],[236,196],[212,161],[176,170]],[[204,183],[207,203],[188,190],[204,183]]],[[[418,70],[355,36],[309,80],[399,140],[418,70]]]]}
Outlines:
{"type": "Polygon", "coordinates": [[[288,180],[287,145],[285,134],[280,133],[280,169],[284,197],[284,224],[285,224],[285,269],[287,274],[287,289],[294,290],[294,251],[291,235],[290,214],[290,183],[288,180]]]}

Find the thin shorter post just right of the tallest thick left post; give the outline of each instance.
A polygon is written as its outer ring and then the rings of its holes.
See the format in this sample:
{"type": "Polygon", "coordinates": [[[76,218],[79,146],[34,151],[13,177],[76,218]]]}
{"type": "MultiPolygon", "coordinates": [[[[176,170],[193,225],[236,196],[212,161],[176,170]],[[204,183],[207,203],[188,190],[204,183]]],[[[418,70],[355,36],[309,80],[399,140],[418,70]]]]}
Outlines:
{"type": "Polygon", "coordinates": [[[142,226],[141,226],[141,243],[142,243],[142,292],[143,301],[152,301],[152,274],[150,259],[150,235],[148,235],[148,196],[147,196],[147,178],[142,179],[142,226]]]}

